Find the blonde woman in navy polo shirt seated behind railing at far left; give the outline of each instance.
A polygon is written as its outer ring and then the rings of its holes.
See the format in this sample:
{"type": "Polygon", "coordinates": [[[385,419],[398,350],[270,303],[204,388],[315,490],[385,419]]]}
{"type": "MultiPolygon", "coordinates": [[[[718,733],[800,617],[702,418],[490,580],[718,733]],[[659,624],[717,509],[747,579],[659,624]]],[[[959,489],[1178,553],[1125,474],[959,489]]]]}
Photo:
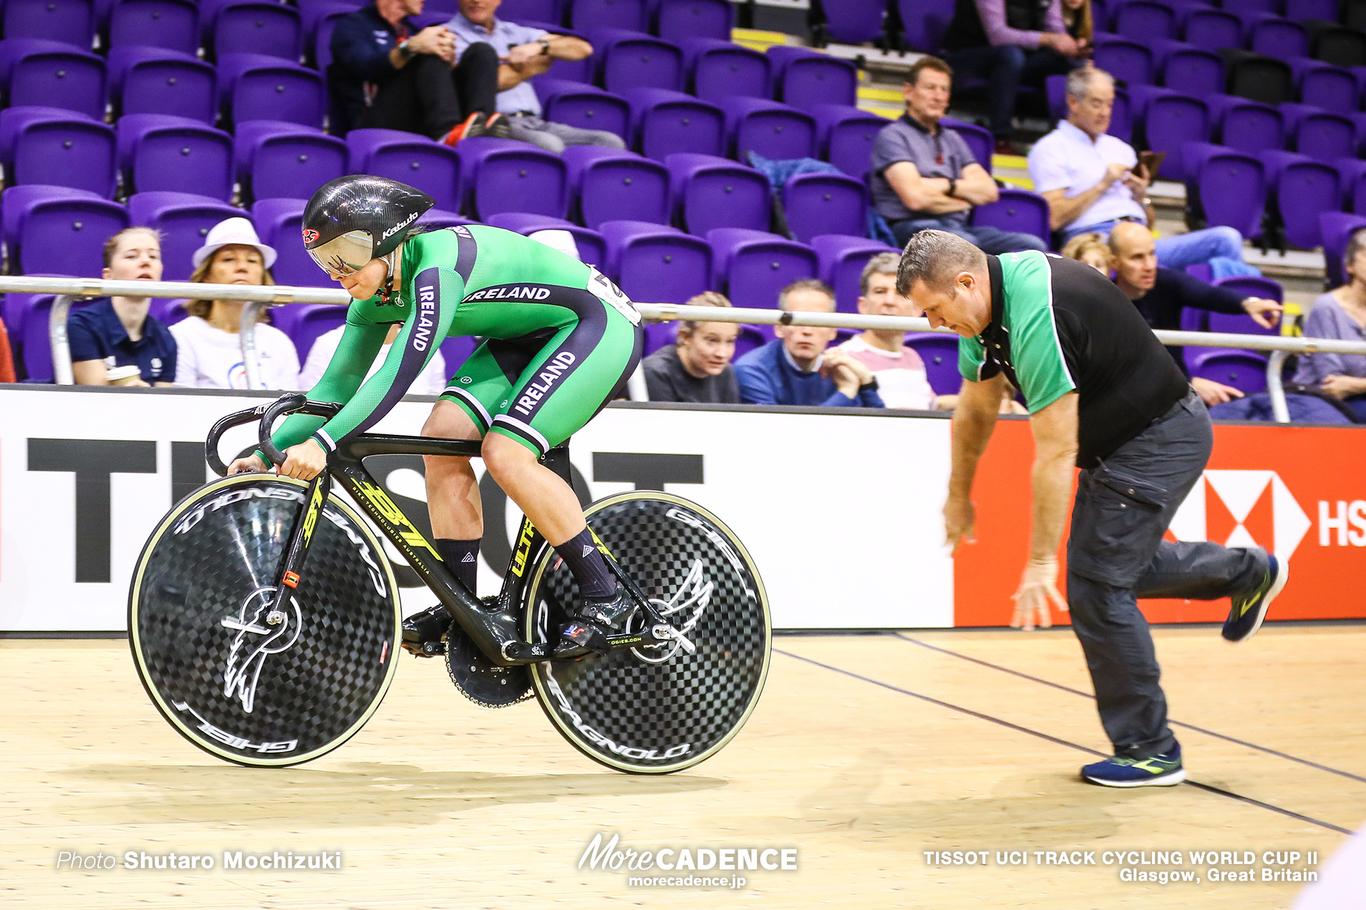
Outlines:
{"type": "MultiPolygon", "coordinates": [[[[127,228],[104,243],[104,271],[111,281],[160,281],[161,238],[152,228],[127,228]]],[[[176,342],[164,322],[148,314],[146,297],[101,297],[67,320],[71,373],[76,385],[108,385],[109,370],[137,366],[119,385],[171,385],[176,342]]],[[[126,370],[119,370],[126,372],[126,370]]]]}

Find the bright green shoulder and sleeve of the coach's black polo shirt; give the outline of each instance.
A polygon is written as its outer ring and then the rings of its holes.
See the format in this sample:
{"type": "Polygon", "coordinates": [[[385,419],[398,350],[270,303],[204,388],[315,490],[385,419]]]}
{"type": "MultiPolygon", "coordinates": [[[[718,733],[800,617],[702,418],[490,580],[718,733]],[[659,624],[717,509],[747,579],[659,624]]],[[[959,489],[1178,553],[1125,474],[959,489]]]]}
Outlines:
{"type": "Polygon", "coordinates": [[[1015,377],[1029,413],[1037,414],[1076,388],[1053,312],[1053,271],[1034,250],[1000,260],[1015,377]]]}

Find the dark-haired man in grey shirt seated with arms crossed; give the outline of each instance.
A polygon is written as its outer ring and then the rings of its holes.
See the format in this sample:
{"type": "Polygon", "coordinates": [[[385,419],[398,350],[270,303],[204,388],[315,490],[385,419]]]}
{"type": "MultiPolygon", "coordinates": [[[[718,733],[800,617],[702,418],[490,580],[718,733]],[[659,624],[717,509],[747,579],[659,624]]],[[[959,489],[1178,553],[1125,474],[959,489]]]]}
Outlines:
{"type": "Polygon", "coordinates": [[[940,123],[948,109],[953,71],[925,56],[906,75],[906,113],[882,127],[873,143],[873,206],[896,242],[917,231],[956,234],[986,253],[1046,250],[1044,238],[968,224],[973,208],[1000,198],[996,180],[953,130],[940,123]]]}

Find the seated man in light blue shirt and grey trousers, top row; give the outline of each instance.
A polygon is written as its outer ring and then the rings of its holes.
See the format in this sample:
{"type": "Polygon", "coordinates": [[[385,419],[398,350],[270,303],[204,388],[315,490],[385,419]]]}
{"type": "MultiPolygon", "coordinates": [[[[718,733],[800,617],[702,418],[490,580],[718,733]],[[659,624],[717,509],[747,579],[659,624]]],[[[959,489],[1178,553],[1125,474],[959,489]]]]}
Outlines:
{"type": "MultiPolygon", "coordinates": [[[[490,46],[499,66],[499,113],[512,126],[512,138],[559,154],[567,145],[600,145],[624,149],[626,143],[607,130],[583,130],[552,123],[541,116],[541,100],[527,82],[556,60],[582,60],[593,45],[582,38],[553,34],[494,18],[503,0],[460,0],[460,11],[445,23],[460,53],[467,48],[490,46]]],[[[460,57],[462,60],[464,57],[460,57]]]]}

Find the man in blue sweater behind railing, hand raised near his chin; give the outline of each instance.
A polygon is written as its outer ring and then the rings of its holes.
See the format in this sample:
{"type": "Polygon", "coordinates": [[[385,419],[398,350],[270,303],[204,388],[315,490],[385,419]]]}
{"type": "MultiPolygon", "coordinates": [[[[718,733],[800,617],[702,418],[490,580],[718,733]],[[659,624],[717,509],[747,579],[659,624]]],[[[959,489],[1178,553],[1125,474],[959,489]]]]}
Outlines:
{"type": "MultiPolygon", "coordinates": [[[[788,313],[833,313],[835,291],[824,281],[792,281],[777,298],[788,313]]],[[[884,407],[873,373],[843,351],[826,351],[835,329],[779,325],[777,340],[735,363],[740,400],[746,404],[817,404],[821,407],[884,407]]]]}

